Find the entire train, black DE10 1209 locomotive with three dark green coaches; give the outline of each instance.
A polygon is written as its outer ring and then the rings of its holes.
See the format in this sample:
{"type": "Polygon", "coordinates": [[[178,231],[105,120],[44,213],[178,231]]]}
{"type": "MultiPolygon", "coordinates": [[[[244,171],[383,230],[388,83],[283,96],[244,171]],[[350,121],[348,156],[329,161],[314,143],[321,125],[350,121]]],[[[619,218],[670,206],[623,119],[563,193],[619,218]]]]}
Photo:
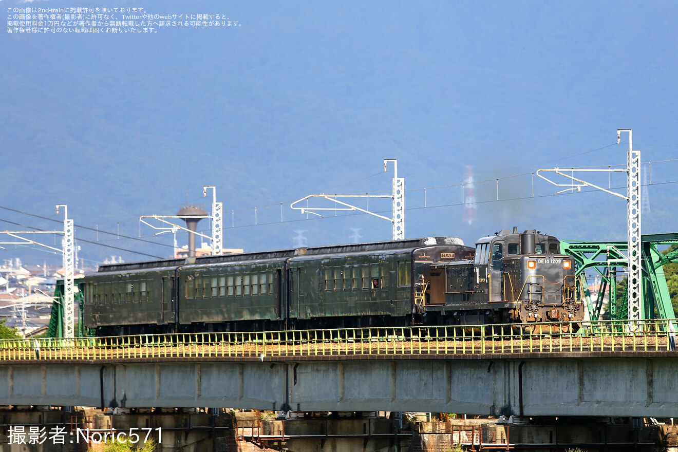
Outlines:
{"type": "Polygon", "coordinates": [[[85,276],[100,336],[583,320],[574,259],[536,230],[109,264],[85,276]]]}

